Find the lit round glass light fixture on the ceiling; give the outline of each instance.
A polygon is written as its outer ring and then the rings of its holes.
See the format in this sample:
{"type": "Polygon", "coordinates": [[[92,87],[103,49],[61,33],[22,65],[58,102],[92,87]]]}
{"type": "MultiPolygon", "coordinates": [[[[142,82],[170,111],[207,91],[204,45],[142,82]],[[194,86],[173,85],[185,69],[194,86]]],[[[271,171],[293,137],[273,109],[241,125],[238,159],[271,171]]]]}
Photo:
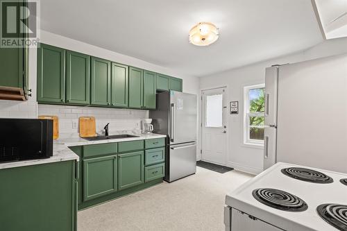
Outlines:
{"type": "Polygon", "coordinates": [[[199,22],[189,31],[189,42],[196,46],[208,46],[219,37],[219,28],[210,22],[199,22]]]}

